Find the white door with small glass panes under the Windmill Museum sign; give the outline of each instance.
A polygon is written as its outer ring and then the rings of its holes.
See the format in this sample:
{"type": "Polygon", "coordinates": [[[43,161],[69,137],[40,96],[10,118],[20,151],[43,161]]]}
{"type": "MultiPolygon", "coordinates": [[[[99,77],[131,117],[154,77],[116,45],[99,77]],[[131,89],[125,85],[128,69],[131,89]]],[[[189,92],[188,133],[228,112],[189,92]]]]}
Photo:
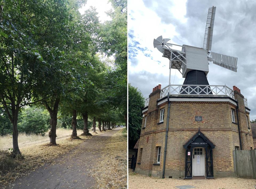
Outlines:
{"type": "Polygon", "coordinates": [[[205,149],[194,148],[192,156],[193,176],[205,176],[205,149]]]}

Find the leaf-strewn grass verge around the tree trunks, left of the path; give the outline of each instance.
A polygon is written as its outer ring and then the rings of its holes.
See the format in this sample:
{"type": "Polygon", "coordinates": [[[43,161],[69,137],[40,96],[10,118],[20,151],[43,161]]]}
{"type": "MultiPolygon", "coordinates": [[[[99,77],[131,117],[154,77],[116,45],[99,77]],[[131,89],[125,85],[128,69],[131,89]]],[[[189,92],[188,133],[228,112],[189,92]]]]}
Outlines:
{"type": "MultiPolygon", "coordinates": [[[[70,133],[70,131],[67,130],[65,133],[70,133]]],[[[90,133],[92,133],[92,131],[90,131],[90,133]]],[[[10,183],[22,175],[29,174],[46,162],[52,163],[53,159],[69,152],[75,146],[78,146],[84,140],[90,138],[90,136],[80,136],[82,140],[70,140],[70,134],[67,134],[66,137],[63,135],[62,138],[56,139],[57,146],[47,145],[49,142],[48,136],[46,136],[48,140],[45,141],[45,139],[42,139],[37,142],[32,137],[31,142],[33,145],[30,144],[29,139],[25,139],[23,145],[21,145],[22,147],[20,147],[22,156],[25,158],[23,160],[12,158],[7,151],[0,151],[0,186],[1,184],[10,183]],[[27,146],[25,146],[26,144],[27,146]]],[[[92,133],[92,135],[99,134],[92,133]]]]}

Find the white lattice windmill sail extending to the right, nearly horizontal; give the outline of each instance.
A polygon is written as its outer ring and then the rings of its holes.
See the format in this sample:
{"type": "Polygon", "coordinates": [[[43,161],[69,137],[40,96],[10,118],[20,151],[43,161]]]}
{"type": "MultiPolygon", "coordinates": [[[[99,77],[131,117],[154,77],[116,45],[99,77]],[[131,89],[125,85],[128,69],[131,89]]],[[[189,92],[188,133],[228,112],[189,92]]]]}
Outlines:
{"type": "Polygon", "coordinates": [[[208,60],[213,61],[213,64],[216,64],[223,68],[227,68],[229,70],[237,72],[237,58],[236,57],[211,52],[211,57],[208,57],[208,60]]]}

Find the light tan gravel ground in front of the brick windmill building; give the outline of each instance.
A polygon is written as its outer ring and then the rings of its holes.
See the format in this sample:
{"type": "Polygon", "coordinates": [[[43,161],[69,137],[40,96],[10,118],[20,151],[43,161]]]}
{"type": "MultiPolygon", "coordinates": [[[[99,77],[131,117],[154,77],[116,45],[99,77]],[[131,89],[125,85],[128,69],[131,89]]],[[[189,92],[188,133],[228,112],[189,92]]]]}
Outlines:
{"type": "MultiPolygon", "coordinates": [[[[243,178],[217,178],[206,180],[184,180],[184,179],[161,179],[155,177],[146,177],[143,175],[135,175],[129,173],[128,178],[129,189],[133,188],[176,188],[175,186],[192,185],[196,188],[220,188],[220,189],[250,189],[255,188],[255,179],[243,179],[243,178]]],[[[177,189],[177,188],[176,188],[177,189]]]]}

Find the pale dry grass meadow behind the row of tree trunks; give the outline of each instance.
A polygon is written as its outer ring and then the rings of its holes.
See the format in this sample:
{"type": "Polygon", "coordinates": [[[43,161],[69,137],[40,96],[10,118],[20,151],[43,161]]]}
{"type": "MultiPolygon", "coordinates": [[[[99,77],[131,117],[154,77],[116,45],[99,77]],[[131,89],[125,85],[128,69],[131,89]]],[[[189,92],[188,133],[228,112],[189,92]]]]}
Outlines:
{"type": "MultiPolygon", "coordinates": [[[[96,132],[98,131],[99,129],[96,128],[96,132]]],[[[81,129],[78,129],[77,135],[81,135],[82,132],[83,131],[81,129]]],[[[19,148],[49,142],[50,139],[49,139],[48,133],[49,132],[47,132],[45,136],[35,135],[35,134],[26,135],[25,133],[19,133],[18,135],[19,148]]],[[[91,129],[90,129],[90,133],[92,133],[91,129]]],[[[56,141],[58,142],[58,140],[61,138],[69,137],[71,134],[72,134],[71,129],[59,128],[56,130],[56,135],[57,135],[56,141]]],[[[0,150],[8,150],[9,148],[12,148],[12,146],[13,146],[12,135],[0,136],[0,150]]]]}

